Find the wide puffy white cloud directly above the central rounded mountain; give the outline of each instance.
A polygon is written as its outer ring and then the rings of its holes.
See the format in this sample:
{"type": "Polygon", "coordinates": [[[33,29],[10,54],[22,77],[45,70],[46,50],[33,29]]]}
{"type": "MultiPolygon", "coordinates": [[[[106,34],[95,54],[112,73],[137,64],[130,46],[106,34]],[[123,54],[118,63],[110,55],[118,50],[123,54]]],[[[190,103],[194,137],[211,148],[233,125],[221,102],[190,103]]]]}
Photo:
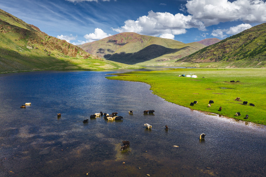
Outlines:
{"type": "Polygon", "coordinates": [[[136,32],[143,35],[158,36],[162,34],[179,35],[186,33],[185,29],[198,28],[206,30],[203,23],[192,18],[192,15],[171,14],[168,12],[148,12],[147,16],[136,21],[126,20],[124,26],[112,28],[116,32],[136,32]]]}

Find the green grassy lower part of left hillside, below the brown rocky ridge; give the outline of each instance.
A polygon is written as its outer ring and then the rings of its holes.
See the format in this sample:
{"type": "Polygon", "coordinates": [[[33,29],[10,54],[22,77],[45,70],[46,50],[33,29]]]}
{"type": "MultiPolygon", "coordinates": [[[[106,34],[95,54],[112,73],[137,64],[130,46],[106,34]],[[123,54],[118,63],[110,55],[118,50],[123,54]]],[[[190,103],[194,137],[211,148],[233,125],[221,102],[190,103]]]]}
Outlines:
{"type": "Polygon", "coordinates": [[[71,57],[59,50],[48,49],[38,43],[34,44],[36,49],[28,49],[28,41],[26,38],[17,40],[19,37],[19,33],[0,33],[0,73],[32,70],[92,71],[117,68],[141,68],[139,66],[126,65],[108,60],[96,60],[92,57],[83,59],[80,55],[71,57]],[[44,49],[50,52],[44,51],[44,49]]]}

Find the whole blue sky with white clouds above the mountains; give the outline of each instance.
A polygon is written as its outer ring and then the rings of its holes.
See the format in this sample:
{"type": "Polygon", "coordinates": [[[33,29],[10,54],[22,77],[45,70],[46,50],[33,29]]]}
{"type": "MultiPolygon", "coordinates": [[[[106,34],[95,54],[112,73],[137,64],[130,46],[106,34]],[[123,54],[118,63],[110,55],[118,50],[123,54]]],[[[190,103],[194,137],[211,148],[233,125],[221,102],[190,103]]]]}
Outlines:
{"type": "Polygon", "coordinates": [[[74,45],[120,32],[224,39],[266,22],[265,0],[8,0],[0,8],[74,45]]]}

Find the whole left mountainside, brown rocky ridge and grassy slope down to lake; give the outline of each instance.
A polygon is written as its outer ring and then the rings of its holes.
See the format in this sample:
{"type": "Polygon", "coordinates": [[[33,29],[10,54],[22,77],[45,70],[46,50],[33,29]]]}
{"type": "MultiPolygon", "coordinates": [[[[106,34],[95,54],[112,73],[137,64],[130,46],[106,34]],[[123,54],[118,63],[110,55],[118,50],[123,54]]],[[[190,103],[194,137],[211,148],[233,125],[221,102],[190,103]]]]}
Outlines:
{"type": "Polygon", "coordinates": [[[112,69],[130,65],[103,60],[0,9],[0,73],[40,69],[112,69]]]}

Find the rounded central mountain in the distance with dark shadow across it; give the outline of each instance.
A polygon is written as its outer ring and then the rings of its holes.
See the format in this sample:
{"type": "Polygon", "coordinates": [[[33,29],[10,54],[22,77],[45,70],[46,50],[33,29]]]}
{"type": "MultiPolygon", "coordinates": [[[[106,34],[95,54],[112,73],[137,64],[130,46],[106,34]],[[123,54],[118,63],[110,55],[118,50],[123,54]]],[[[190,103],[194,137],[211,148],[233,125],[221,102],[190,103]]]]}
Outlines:
{"type": "Polygon", "coordinates": [[[172,39],[123,32],[104,39],[77,45],[107,60],[125,64],[157,65],[172,62],[206,47],[197,42],[185,44],[172,39]]]}

